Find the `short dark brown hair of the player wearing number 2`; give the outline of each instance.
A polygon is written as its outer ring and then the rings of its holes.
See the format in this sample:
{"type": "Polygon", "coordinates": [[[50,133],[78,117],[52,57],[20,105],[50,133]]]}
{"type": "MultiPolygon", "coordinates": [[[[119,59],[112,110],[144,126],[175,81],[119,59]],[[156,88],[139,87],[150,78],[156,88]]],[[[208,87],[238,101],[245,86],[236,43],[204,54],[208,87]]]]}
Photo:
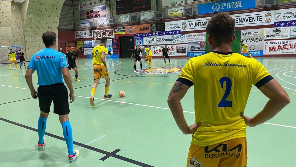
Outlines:
{"type": "Polygon", "coordinates": [[[231,43],[234,34],[235,22],[226,12],[219,12],[207,22],[207,34],[211,35],[216,45],[231,43]]]}

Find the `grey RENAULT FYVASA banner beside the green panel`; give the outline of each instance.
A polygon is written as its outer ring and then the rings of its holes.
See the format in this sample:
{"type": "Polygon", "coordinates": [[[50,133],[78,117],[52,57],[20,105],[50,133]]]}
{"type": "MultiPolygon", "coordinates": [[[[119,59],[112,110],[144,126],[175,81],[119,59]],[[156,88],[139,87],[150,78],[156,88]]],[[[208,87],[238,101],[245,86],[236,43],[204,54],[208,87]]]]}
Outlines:
{"type": "MultiPolygon", "coordinates": [[[[248,45],[252,56],[263,56],[263,31],[264,29],[241,30],[241,40],[248,45]]],[[[244,53],[244,56],[247,56],[244,53]]]]}

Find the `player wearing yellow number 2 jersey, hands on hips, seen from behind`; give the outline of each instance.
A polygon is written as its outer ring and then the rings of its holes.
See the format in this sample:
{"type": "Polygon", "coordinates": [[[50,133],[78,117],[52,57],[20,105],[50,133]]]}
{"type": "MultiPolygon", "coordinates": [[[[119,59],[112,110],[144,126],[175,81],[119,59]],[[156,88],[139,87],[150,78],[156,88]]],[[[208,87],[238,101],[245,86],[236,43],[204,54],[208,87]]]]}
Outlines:
{"type": "Polygon", "coordinates": [[[247,126],[268,121],[290,102],[260,62],[231,51],[234,27],[228,13],[214,15],[206,28],[212,52],[189,59],[170,91],[168,105],[179,129],[193,134],[187,167],[247,166],[247,126]],[[243,114],[252,84],[270,100],[249,118],[243,114]],[[192,85],[195,123],[188,126],[181,99],[192,85]]]}

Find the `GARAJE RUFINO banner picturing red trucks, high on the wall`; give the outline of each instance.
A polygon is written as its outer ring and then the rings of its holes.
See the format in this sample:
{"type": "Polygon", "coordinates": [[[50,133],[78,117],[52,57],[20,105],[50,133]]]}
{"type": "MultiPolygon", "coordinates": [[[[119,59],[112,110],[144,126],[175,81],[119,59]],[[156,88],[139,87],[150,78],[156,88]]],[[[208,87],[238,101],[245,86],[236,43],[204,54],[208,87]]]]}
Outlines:
{"type": "Polygon", "coordinates": [[[86,1],[79,3],[80,20],[106,17],[105,0],[86,1]]]}

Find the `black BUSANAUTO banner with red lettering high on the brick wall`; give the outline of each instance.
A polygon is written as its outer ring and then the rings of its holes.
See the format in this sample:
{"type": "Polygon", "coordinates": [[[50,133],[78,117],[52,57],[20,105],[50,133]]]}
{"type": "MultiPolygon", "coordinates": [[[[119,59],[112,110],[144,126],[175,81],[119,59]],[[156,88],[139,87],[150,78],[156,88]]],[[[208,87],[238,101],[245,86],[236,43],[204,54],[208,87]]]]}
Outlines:
{"type": "Polygon", "coordinates": [[[118,15],[151,10],[150,0],[116,0],[118,15]]]}

